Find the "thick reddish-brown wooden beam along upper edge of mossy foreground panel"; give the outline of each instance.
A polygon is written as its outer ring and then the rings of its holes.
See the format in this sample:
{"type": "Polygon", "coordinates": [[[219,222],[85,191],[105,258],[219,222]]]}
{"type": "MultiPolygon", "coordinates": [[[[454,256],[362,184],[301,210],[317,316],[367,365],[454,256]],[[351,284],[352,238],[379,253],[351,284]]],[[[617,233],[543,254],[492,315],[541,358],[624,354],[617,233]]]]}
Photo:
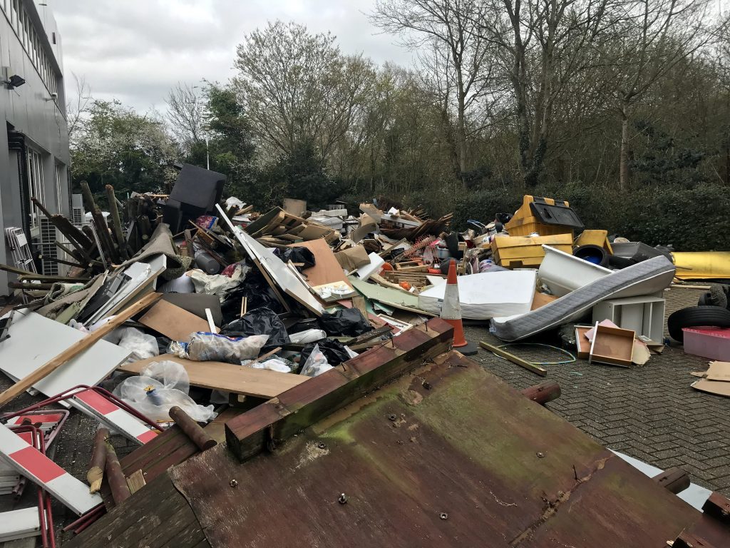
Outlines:
{"type": "Polygon", "coordinates": [[[364,394],[450,349],[453,327],[434,318],[311,378],[226,423],[241,461],[276,446],[364,394]]]}

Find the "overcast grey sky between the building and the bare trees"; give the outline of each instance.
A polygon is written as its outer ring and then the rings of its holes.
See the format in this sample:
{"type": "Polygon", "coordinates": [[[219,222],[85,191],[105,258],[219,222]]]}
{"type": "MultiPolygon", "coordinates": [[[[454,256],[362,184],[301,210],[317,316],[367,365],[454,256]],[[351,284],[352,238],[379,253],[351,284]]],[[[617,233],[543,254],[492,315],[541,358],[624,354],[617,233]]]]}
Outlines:
{"type": "Polygon", "coordinates": [[[120,99],[137,110],[165,109],[178,82],[228,80],[236,46],[267,20],[331,31],[343,53],[378,64],[410,64],[398,39],[380,34],[365,13],[374,0],[47,0],[64,49],[66,94],[73,74],[93,96],[120,99]]]}

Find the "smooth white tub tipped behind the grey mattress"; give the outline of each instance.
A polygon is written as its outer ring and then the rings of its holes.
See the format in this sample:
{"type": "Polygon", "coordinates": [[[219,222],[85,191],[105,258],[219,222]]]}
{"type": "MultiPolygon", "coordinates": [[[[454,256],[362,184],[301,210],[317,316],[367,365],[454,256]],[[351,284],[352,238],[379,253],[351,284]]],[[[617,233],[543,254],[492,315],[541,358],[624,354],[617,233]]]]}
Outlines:
{"type": "Polygon", "coordinates": [[[542,244],[542,248],[545,249],[545,259],[540,263],[537,278],[556,297],[562,297],[612,273],[608,268],[593,265],[559,249],[545,244],[542,244]]]}

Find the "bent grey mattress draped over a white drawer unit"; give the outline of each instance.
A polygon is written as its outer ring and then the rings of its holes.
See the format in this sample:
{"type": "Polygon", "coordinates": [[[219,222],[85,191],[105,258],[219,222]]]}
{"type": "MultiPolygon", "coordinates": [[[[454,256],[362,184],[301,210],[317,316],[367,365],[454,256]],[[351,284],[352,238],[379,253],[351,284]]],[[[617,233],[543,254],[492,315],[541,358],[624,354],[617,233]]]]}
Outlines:
{"type": "Polygon", "coordinates": [[[665,256],[658,256],[631,265],[623,270],[589,283],[537,310],[492,320],[494,334],[512,342],[573,321],[608,298],[637,297],[661,291],[672,283],[675,265],[665,256]]]}

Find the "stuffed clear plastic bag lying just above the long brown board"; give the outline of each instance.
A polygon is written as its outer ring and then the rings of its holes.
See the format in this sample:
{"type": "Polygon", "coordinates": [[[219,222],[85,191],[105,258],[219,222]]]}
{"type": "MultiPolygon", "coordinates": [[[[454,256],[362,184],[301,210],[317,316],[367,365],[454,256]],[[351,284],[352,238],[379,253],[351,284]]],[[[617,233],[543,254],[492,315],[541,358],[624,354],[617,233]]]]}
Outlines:
{"type": "Polygon", "coordinates": [[[235,338],[215,333],[193,333],[189,343],[174,343],[170,351],[196,362],[228,362],[239,364],[244,359],[258,357],[269,335],[235,338]]]}

